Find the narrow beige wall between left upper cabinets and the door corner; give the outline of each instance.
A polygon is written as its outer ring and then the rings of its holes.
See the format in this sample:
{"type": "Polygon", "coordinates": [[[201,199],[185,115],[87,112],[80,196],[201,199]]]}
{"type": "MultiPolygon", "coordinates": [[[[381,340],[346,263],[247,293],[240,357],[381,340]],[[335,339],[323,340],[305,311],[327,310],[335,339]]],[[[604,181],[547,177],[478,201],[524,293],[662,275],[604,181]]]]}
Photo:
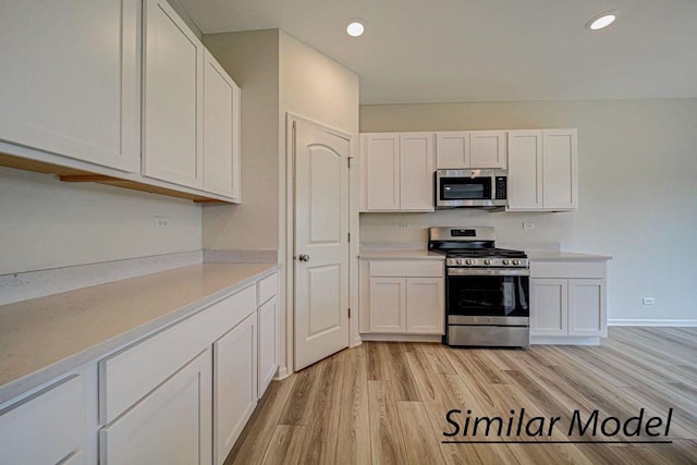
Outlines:
{"type": "Polygon", "coordinates": [[[279,32],[204,35],[242,89],[242,205],[204,207],[204,248],[277,250],[279,32]]]}

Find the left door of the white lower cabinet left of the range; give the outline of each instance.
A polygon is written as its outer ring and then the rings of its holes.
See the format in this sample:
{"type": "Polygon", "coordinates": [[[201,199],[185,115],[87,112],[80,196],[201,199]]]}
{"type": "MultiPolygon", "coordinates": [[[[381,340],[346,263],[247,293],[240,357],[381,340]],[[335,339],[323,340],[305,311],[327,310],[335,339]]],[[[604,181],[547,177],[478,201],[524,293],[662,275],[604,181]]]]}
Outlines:
{"type": "Polygon", "coordinates": [[[370,278],[370,331],[406,331],[406,279],[370,278]]]}

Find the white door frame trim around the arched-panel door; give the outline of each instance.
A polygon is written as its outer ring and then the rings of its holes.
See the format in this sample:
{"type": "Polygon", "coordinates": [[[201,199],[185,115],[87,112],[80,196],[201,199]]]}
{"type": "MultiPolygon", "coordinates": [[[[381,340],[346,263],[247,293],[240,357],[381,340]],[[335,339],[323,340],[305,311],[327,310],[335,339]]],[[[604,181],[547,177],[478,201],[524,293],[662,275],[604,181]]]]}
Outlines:
{"type": "Polygon", "coordinates": [[[358,187],[359,187],[359,167],[358,167],[358,144],[357,134],[348,134],[344,131],[319,123],[309,118],[302,117],[293,112],[285,113],[285,150],[281,154],[285,158],[284,173],[281,173],[282,185],[281,194],[285,191],[285,199],[281,205],[281,234],[285,237],[281,238],[280,244],[283,250],[279,250],[279,258],[285,265],[282,279],[285,280],[284,302],[285,311],[281,318],[281,328],[284,338],[281,339],[281,346],[285,350],[281,354],[281,363],[284,362],[285,372],[279,370],[279,378],[283,379],[295,371],[295,267],[293,253],[295,249],[295,139],[293,125],[295,122],[305,122],[321,127],[330,134],[346,139],[348,142],[348,157],[351,157],[351,169],[348,170],[348,232],[351,233],[351,243],[348,244],[348,308],[351,308],[351,318],[348,319],[348,347],[354,347],[362,343],[358,333],[358,187]]]}

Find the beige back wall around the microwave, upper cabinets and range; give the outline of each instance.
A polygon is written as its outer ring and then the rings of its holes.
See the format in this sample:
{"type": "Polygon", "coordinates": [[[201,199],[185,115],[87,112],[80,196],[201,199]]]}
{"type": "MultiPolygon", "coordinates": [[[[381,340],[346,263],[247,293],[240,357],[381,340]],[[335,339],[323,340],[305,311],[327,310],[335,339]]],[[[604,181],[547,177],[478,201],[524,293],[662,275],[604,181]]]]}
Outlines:
{"type": "Polygon", "coordinates": [[[463,224],[493,225],[505,242],[557,241],[614,256],[611,319],[697,321],[696,121],[697,99],[363,106],[360,132],[577,127],[579,210],[364,213],[360,238],[426,241],[428,225],[463,224]],[[411,229],[400,231],[401,221],[411,229]]]}

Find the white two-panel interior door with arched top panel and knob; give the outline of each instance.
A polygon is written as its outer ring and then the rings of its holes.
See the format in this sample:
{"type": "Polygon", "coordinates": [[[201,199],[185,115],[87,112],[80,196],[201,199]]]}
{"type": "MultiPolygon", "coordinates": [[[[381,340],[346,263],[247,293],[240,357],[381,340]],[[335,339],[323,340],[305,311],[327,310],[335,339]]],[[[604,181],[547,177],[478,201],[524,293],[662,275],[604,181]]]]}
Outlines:
{"type": "Polygon", "coordinates": [[[348,139],[295,121],[295,369],[348,346],[348,139]]]}

